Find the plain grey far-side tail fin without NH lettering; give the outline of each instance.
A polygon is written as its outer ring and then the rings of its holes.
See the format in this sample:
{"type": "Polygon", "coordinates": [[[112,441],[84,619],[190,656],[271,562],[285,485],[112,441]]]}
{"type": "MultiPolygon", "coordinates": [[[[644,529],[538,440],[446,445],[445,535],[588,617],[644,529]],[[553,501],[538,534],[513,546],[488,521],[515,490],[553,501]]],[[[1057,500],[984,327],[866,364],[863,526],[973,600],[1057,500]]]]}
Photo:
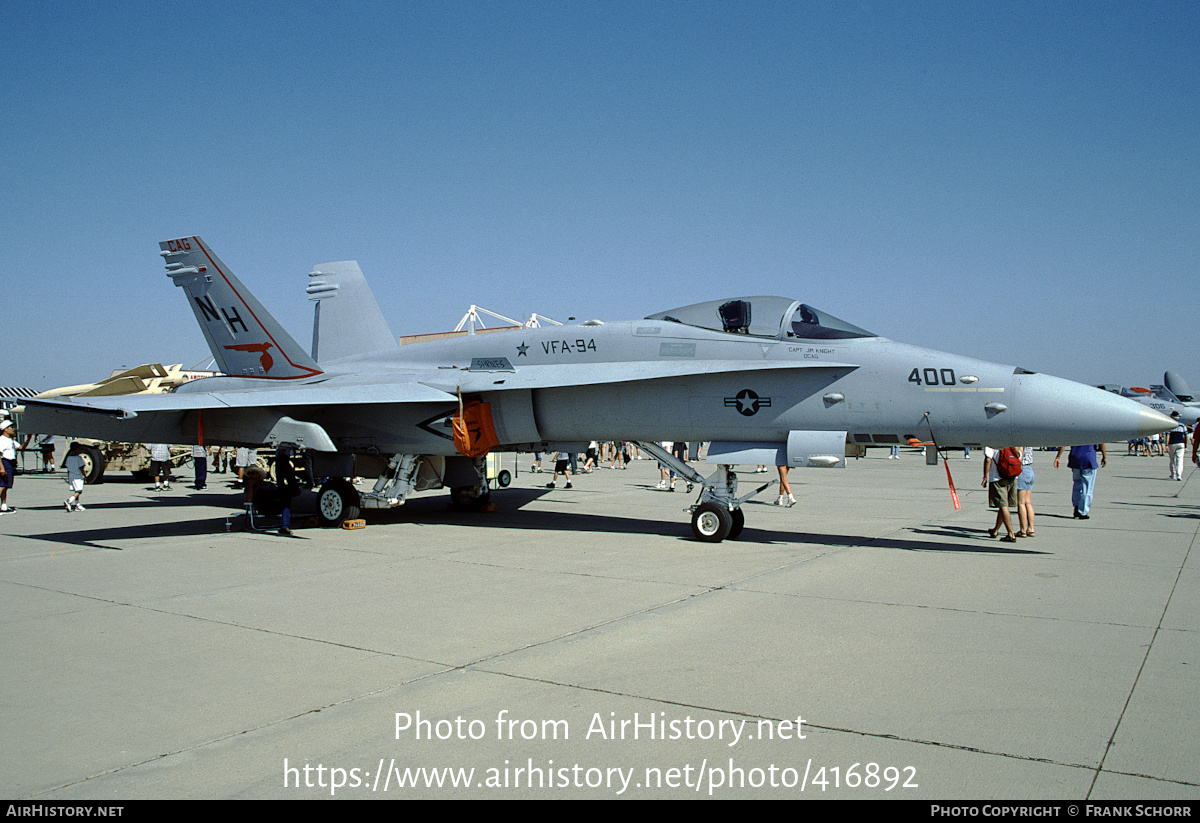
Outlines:
{"type": "Polygon", "coordinates": [[[329,362],[354,354],[397,348],[396,338],[354,260],[320,263],[308,274],[312,356],[329,362]]]}

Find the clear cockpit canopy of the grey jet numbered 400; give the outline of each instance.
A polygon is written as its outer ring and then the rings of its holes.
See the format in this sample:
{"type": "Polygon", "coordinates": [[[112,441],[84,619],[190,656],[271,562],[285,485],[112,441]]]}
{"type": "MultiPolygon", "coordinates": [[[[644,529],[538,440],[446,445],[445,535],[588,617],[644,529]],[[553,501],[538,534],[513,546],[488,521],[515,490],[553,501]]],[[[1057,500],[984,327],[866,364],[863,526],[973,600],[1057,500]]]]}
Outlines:
{"type": "Polygon", "coordinates": [[[650,314],[646,319],[776,340],[848,340],[877,336],[791,298],[709,300],[650,314]]]}

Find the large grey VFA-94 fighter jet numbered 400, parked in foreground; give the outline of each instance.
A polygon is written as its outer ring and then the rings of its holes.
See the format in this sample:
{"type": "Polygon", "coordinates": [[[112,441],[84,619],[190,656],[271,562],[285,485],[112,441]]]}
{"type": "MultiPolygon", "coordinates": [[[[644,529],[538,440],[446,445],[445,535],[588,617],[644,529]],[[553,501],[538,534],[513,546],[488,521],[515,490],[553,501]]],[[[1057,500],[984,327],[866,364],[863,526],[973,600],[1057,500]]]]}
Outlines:
{"type": "MultiPolygon", "coordinates": [[[[1132,400],[880,337],[792,298],[400,346],[353,262],[310,276],[305,352],[196,236],[160,244],[223,377],[158,397],[26,401],[28,431],[306,449],[322,518],[449,487],[487,498],[488,451],[630,440],[700,486],[694,535],[744,525],[738,465],[844,468],[846,444],[1081,444],[1168,431],[1132,400]],[[659,447],[710,440],[703,476],[659,447]],[[347,480],[376,477],[359,493],[347,480]]],[[[761,488],[756,489],[761,491],[761,488]]]]}

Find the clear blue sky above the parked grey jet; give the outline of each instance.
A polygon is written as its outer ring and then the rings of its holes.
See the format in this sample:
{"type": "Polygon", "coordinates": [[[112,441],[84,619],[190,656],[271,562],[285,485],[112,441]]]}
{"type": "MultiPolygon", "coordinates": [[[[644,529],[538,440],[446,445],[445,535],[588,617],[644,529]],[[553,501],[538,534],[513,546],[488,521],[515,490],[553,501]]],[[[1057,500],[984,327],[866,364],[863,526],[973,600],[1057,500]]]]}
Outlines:
{"type": "Polygon", "coordinates": [[[206,356],[198,234],[307,344],[782,294],[1087,383],[1200,384],[1200,5],[0,0],[8,340],[49,389],[206,356]]]}

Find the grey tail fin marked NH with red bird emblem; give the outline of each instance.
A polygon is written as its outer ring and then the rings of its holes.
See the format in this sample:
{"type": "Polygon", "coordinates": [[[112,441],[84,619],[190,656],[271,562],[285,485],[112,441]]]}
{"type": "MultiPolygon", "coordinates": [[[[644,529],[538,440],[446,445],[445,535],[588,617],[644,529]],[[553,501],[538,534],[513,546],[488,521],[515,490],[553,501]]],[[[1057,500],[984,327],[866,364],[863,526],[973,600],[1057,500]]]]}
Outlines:
{"type": "Polygon", "coordinates": [[[217,368],[233,377],[294,380],[316,361],[199,238],[158,244],[167,275],[187,292],[217,368]]]}

